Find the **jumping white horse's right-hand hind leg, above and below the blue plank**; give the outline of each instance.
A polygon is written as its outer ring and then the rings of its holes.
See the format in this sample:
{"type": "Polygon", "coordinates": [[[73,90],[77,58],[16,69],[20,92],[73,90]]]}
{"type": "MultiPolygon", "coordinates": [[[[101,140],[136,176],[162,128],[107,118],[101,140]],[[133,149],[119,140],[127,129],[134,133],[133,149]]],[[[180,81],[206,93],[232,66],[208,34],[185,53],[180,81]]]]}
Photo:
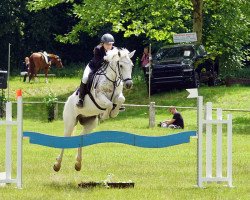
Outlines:
{"type": "MultiPolygon", "coordinates": [[[[97,126],[98,117],[93,116],[93,117],[85,118],[81,120],[81,124],[84,127],[81,135],[90,133],[97,126]]],[[[82,168],[82,147],[78,148],[77,150],[75,170],[80,171],[81,168],[82,168]]]]}

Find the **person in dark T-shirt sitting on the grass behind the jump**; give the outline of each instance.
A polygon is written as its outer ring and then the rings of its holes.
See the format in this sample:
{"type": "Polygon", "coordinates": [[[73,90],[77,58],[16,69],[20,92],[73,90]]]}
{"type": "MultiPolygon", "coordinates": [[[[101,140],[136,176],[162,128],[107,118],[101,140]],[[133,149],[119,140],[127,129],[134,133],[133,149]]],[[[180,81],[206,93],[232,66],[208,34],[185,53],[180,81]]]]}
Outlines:
{"type": "Polygon", "coordinates": [[[181,114],[176,110],[174,106],[171,106],[169,109],[169,112],[173,114],[172,119],[165,120],[163,122],[160,122],[160,127],[166,127],[166,128],[182,128],[184,129],[184,121],[181,116],[181,114]]]}

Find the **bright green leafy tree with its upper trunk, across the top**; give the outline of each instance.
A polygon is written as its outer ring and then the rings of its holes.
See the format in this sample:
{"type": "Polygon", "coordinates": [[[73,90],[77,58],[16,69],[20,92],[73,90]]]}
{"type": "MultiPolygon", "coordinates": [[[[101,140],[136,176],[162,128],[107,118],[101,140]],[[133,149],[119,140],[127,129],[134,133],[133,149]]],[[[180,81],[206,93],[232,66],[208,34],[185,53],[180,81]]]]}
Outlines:
{"type": "Polygon", "coordinates": [[[65,43],[79,42],[80,32],[96,35],[105,26],[125,37],[145,35],[166,43],[174,33],[193,30],[198,42],[222,55],[227,69],[240,66],[242,45],[249,44],[248,0],[34,0],[28,7],[36,11],[62,2],[72,4],[78,19],[70,32],[57,36],[65,43]]]}

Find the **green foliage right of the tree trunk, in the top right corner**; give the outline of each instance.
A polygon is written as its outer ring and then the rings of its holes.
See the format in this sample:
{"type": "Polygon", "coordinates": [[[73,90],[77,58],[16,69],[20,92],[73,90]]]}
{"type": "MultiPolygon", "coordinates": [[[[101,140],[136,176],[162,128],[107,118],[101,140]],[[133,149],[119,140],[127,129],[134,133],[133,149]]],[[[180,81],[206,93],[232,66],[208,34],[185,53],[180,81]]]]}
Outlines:
{"type": "Polygon", "coordinates": [[[242,47],[250,43],[250,2],[248,0],[206,1],[204,41],[220,55],[224,75],[242,65],[242,47]]]}

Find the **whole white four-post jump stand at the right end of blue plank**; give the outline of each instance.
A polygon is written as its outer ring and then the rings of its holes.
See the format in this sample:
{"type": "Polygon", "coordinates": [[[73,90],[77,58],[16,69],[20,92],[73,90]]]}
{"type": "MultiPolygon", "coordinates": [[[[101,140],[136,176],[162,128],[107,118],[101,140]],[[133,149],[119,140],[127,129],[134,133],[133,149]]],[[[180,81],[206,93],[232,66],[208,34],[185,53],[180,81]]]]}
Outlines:
{"type": "Polygon", "coordinates": [[[197,144],[197,185],[199,187],[203,187],[203,182],[227,182],[229,187],[232,187],[232,115],[228,114],[227,119],[222,119],[222,109],[217,109],[217,119],[212,119],[212,103],[208,102],[205,106],[205,119],[202,119],[203,116],[203,97],[199,96],[197,98],[198,105],[198,144],[197,144]],[[227,166],[226,171],[227,175],[223,177],[222,175],[222,125],[225,124],[227,126],[227,166]],[[203,127],[205,125],[205,131],[203,131],[203,127]],[[212,175],[212,125],[216,125],[216,163],[215,170],[216,175],[212,175]],[[202,158],[203,158],[203,133],[206,134],[206,175],[203,176],[203,168],[202,168],[202,158]]]}

